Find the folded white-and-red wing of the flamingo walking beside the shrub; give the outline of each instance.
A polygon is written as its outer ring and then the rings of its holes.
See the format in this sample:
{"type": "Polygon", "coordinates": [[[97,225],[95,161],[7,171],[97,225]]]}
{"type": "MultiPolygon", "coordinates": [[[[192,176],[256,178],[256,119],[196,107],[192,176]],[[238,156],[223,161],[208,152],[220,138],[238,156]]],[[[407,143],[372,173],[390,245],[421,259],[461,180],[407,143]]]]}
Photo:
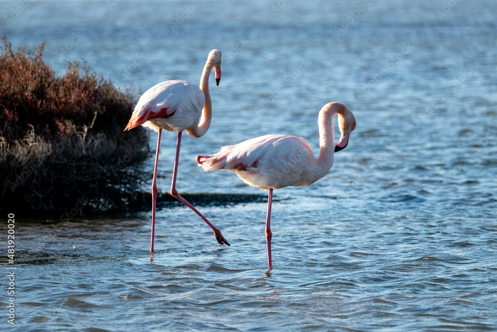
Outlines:
{"type": "Polygon", "coordinates": [[[155,120],[171,122],[169,127],[173,131],[183,130],[195,120],[198,122],[204,103],[204,94],[196,85],[180,80],[165,81],[140,97],[126,129],[155,120]]]}

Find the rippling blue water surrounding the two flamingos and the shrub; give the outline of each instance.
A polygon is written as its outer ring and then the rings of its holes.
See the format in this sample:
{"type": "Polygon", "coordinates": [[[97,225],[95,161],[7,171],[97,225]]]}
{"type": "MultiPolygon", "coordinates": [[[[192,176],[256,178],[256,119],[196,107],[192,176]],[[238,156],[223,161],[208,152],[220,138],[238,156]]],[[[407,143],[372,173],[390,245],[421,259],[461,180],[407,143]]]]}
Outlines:
{"type": "MultiPolygon", "coordinates": [[[[180,192],[265,195],[195,156],[269,133],[317,153],[326,103],[357,129],[325,178],[274,191],[271,268],[265,203],[199,208],[230,247],[189,209],[161,209],[153,255],[149,212],[16,221],[15,326],[2,277],[2,331],[497,330],[494,0],[26,3],[0,2],[13,46],[45,39],[59,73],[85,60],[136,94],[198,83],[223,52],[211,127],[183,135],[180,192]]],[[[174,152],[165,132],[163,191],[174,152]]]]}

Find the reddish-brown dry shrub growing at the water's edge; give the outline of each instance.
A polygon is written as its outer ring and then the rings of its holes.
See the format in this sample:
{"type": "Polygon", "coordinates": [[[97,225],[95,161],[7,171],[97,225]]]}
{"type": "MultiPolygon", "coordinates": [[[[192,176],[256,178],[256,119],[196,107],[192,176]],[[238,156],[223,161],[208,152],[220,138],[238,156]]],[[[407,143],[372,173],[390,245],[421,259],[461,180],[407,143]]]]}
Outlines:
{"type": "Polygon", "coordinates": [[[143,169],[151,152],[142,127],[123,131],[131,92],[78,62],[57,76],[43,61],[44,43],[35,52],[2,41],[0,210],[57,218],[141,205],[136,197],[150,178],[143,169]]]}

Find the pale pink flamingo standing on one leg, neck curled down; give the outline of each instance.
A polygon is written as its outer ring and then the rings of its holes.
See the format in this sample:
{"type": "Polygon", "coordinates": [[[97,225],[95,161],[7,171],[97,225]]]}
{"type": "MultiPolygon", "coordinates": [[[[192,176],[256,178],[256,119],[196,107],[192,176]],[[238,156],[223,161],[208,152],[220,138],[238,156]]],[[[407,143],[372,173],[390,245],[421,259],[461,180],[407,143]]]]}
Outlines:
{"type": "Polygon", "coordinates": [[[236,145],[221,147],[212,155],[199,155],[196,160],[204,171],[227,169],[236,173],[249,186],[269,190],[266,216],[267,265],[271,266],[271,202],[273,189],[308,186],[324,177],[333,164],[334,152],[344,149],[355,129],[352,112],[339,103],[326,104],[319,112],[319,158],[302,137],[265,135],[236,145]],[[340,139],[333,149],[333,115],[338,114],[340,139]]]}

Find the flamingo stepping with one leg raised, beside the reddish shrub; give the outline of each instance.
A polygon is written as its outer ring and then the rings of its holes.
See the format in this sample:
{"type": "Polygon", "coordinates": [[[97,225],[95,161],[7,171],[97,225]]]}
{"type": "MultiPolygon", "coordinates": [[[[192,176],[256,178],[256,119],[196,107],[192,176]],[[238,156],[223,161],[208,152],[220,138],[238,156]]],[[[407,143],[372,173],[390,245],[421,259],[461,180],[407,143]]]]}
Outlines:
{"type": "Polygon", "coordinates": [[[214,68],[216,86],[221,80],[221,52],[212,50],[200,77],[200,88],[196,85],[180,80],[165,81],[147,90],[138,100],[135,110],[131,115],[128,125],[124,130],[143,125],[159,132],[157,138],[157,150],[154,165],[154,179],[152,181],[152,235],[150,240],[150,251],[154,252],[154,232],[157,202],[157,164],[159,162],[159,147],[161,144],[162,129],[177,132],[176,158],[172,172],[171,195],[192,209],[209,227],[214,231],[220,244],[228,241],[221,231],[214,227],[188,201],[179,195],[176,190],[176,176],[178,171],[179,147],[181,144],[181,133],[185,130],[193,137],[200,137],[207,132],[211,123],[212,103],[209,94],[209,76],[214,68]],[[202,115],[202,117],[200,117],[202,115]],[[200,119],[200,122],[199,122],[200,119]]]}

